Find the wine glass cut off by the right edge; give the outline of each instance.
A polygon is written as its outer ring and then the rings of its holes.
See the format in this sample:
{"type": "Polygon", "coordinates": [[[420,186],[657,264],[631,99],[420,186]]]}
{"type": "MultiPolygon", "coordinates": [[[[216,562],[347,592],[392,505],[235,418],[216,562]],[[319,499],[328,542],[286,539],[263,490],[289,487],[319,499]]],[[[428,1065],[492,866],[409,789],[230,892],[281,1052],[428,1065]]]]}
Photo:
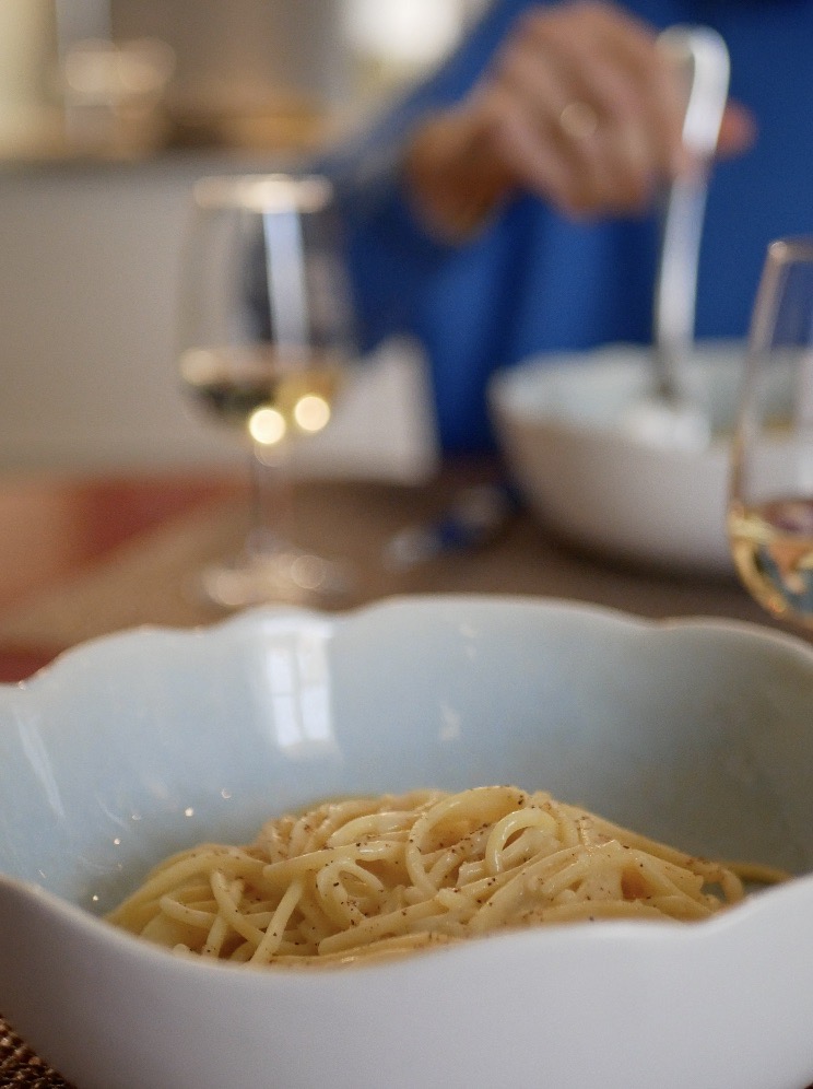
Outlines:
{"type": "Polygon", "coordinates": [[[813,628],[813,237],[768,246],[733,440],[728,510],[740,578],[813,628]]]}

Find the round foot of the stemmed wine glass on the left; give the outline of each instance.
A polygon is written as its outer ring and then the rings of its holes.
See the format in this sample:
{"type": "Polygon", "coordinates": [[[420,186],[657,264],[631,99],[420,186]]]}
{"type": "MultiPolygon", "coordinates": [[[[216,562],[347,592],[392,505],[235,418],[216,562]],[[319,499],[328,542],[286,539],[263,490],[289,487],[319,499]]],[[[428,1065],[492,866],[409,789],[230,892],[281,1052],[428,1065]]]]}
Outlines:
{"type": "Polygon", "coordinates": [[[352,593],[350,567],[296,548],[255,552],[232,563],[204,569],[197,581],[197,595],[224,609],[250,606],[341,605],[352,593]]]}

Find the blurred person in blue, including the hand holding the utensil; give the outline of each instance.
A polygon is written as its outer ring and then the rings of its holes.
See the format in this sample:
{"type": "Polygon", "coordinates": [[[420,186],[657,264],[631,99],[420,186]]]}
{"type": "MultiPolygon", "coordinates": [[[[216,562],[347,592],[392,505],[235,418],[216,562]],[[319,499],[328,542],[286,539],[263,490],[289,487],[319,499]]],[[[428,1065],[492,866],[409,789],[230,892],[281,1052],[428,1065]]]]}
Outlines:
{"type": "Polygon", "coordinates": [[[495,368],[651,339],[658,192],[692,168],[679,75],[656,46],[674,23],[716,28],[731,57],[696,332],[744,336],[767,243],[813,232],[813,0],[495,0],[320,164],[365,347],[424,344],[446,452],[493,446],[495,368]]]}

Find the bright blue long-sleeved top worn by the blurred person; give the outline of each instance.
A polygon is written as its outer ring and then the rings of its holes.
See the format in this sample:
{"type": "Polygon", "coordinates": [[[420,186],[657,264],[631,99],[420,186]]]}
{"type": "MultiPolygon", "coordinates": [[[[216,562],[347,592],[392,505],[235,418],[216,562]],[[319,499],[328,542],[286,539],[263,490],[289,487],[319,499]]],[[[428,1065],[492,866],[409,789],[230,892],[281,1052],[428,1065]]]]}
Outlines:
{"type": "MultiPolygon", "coordinates": [[[[543,351],[651,338],[653,215],[574,223],[530,197],[472,243],[445,246],[410,212],[397,163],[416,120],[462,96],[525,0],[495,7],[443,68],[329,164],[349,224],[365,347],[416,336],[447,452],[493,445],[485,390],[497,367],[543,351]]],[[[657,28],[705,23],[731,56],[731,94],[754,114],[753,150],[718,164],[704,231],[696,333],[747,331],[771,238],[813,234],[813,0],[632,0],[657,28]]]]}

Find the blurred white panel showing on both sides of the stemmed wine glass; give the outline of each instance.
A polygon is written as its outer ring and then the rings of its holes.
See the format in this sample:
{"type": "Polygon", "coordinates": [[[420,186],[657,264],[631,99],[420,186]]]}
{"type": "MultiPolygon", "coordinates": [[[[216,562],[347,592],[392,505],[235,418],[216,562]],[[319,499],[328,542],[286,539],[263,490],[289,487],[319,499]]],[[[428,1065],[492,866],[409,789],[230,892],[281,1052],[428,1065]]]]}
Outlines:
{"type": "MultiPolygon", "coordinates": [[[[0,171],[0,469],[241,465],[231,432],[188,405],[175,360],[190,189],[234,169],[167,154],[0,171]]],[[[385,346],[298,465],[420,479],[435,464],[428,405],[420,351],[385,346]]]]}

